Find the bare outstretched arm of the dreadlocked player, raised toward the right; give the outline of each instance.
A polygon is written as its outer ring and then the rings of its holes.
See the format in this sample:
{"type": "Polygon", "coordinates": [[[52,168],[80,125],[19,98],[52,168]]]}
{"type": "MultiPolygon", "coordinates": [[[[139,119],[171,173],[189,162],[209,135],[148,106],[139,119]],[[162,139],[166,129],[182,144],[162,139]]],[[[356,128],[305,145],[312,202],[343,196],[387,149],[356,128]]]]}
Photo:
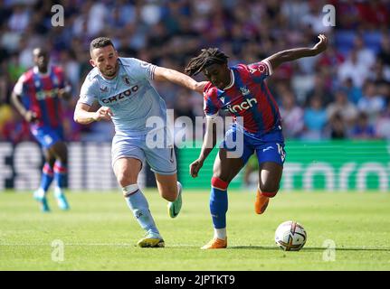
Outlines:
{"type": "Polygon", "coordinates": [[[316,56],[325,51],[328,47],[328,39],[324,34],[319,34],[319,42],[313,47],[294,48],[287,51],[280,51],[268,57],[266,60],[270,62],[272,70],[275,70],[282,63],[295,61],[302,57],[316,56]]]}

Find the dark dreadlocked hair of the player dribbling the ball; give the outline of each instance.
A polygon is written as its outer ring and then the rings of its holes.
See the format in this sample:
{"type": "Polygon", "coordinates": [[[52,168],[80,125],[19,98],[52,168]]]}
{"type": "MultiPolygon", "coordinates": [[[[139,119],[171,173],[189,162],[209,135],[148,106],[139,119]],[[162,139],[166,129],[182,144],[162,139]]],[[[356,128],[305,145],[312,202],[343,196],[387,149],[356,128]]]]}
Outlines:
{"type": "Polygon", "coordinates": [[[218,48],[203,49],[201,53],[192,58],[185,67],[185,73],[196,75],[212,64],[226,64],[229,56],[219,51],[218,48]]]}

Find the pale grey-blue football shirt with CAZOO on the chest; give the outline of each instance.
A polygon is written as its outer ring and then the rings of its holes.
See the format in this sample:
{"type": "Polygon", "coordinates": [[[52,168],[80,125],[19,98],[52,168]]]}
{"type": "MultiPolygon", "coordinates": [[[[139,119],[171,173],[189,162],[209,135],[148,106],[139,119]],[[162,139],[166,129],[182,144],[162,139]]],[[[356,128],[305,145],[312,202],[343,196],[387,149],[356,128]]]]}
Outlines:
{"type": "Polygon", "coordinates": [[[134,58],[119,58],[119,72],[105,79],[98,68],[90,70],[81,87],[79,102],[92,105],[99,101],[112,110],[117,133],[146,135],[149,117],[160,117],[166,126],[166,104],[151,85],[156,66],[134,58]]]}

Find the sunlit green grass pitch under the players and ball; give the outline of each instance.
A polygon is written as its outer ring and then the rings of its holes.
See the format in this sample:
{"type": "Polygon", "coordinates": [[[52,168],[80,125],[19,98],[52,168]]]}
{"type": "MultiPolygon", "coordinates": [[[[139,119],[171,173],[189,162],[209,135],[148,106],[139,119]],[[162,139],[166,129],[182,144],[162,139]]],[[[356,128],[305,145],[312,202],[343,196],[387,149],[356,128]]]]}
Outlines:
{"type": "Polygon", "coordinates": [[[50,213],[39,211],[31,193],[0,193],[0,270],[390,269],[388,193],[281,191],[259,216],[254,192],[229,191],[229,243],[221,250],[200,249],[213,236],[208,191],[185,191],[176,219],[156,190],[146,195],[165,248],[135,247],[143,232],[119,191],[68,192],[66,212],[51,193],[50,213]],[[289,219],[308,232],[300,252],[274,244],[275,229],[289,219]]]}

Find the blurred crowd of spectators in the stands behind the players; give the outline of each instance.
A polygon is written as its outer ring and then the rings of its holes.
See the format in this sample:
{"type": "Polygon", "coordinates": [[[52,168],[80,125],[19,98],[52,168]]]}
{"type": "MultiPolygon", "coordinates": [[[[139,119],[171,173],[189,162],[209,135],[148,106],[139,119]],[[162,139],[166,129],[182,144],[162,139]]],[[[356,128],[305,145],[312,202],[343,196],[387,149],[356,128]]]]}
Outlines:
{"type": "MultiPolygon", "coordinates": [[[[61,65],[73,98],[64,103],[69,141],[108,141],[109,123],[72,120],[81,84],[91,69],[89,44],[109,36],[120,56],[184,71],[201,48],[219,47],[230,64],[261,61],[272,53],[312,46],[328,36],[328,51],[283,64],[268,79],[281,107],[287,139],[390,139],[390,2],[277,0],[0,0],[0,141],[31,139],[10,105],[15,81],[44,45],[61,65]],[[52,26],[52,5],[64,25],[52,26]],[[336,8],[325,26],[325,5],[336,8]]],[[[203,76],[196,77],[202,80],[203,76]]],[[[203,98],[156,83],[175,117],[203,116],[203,98]]]]}

